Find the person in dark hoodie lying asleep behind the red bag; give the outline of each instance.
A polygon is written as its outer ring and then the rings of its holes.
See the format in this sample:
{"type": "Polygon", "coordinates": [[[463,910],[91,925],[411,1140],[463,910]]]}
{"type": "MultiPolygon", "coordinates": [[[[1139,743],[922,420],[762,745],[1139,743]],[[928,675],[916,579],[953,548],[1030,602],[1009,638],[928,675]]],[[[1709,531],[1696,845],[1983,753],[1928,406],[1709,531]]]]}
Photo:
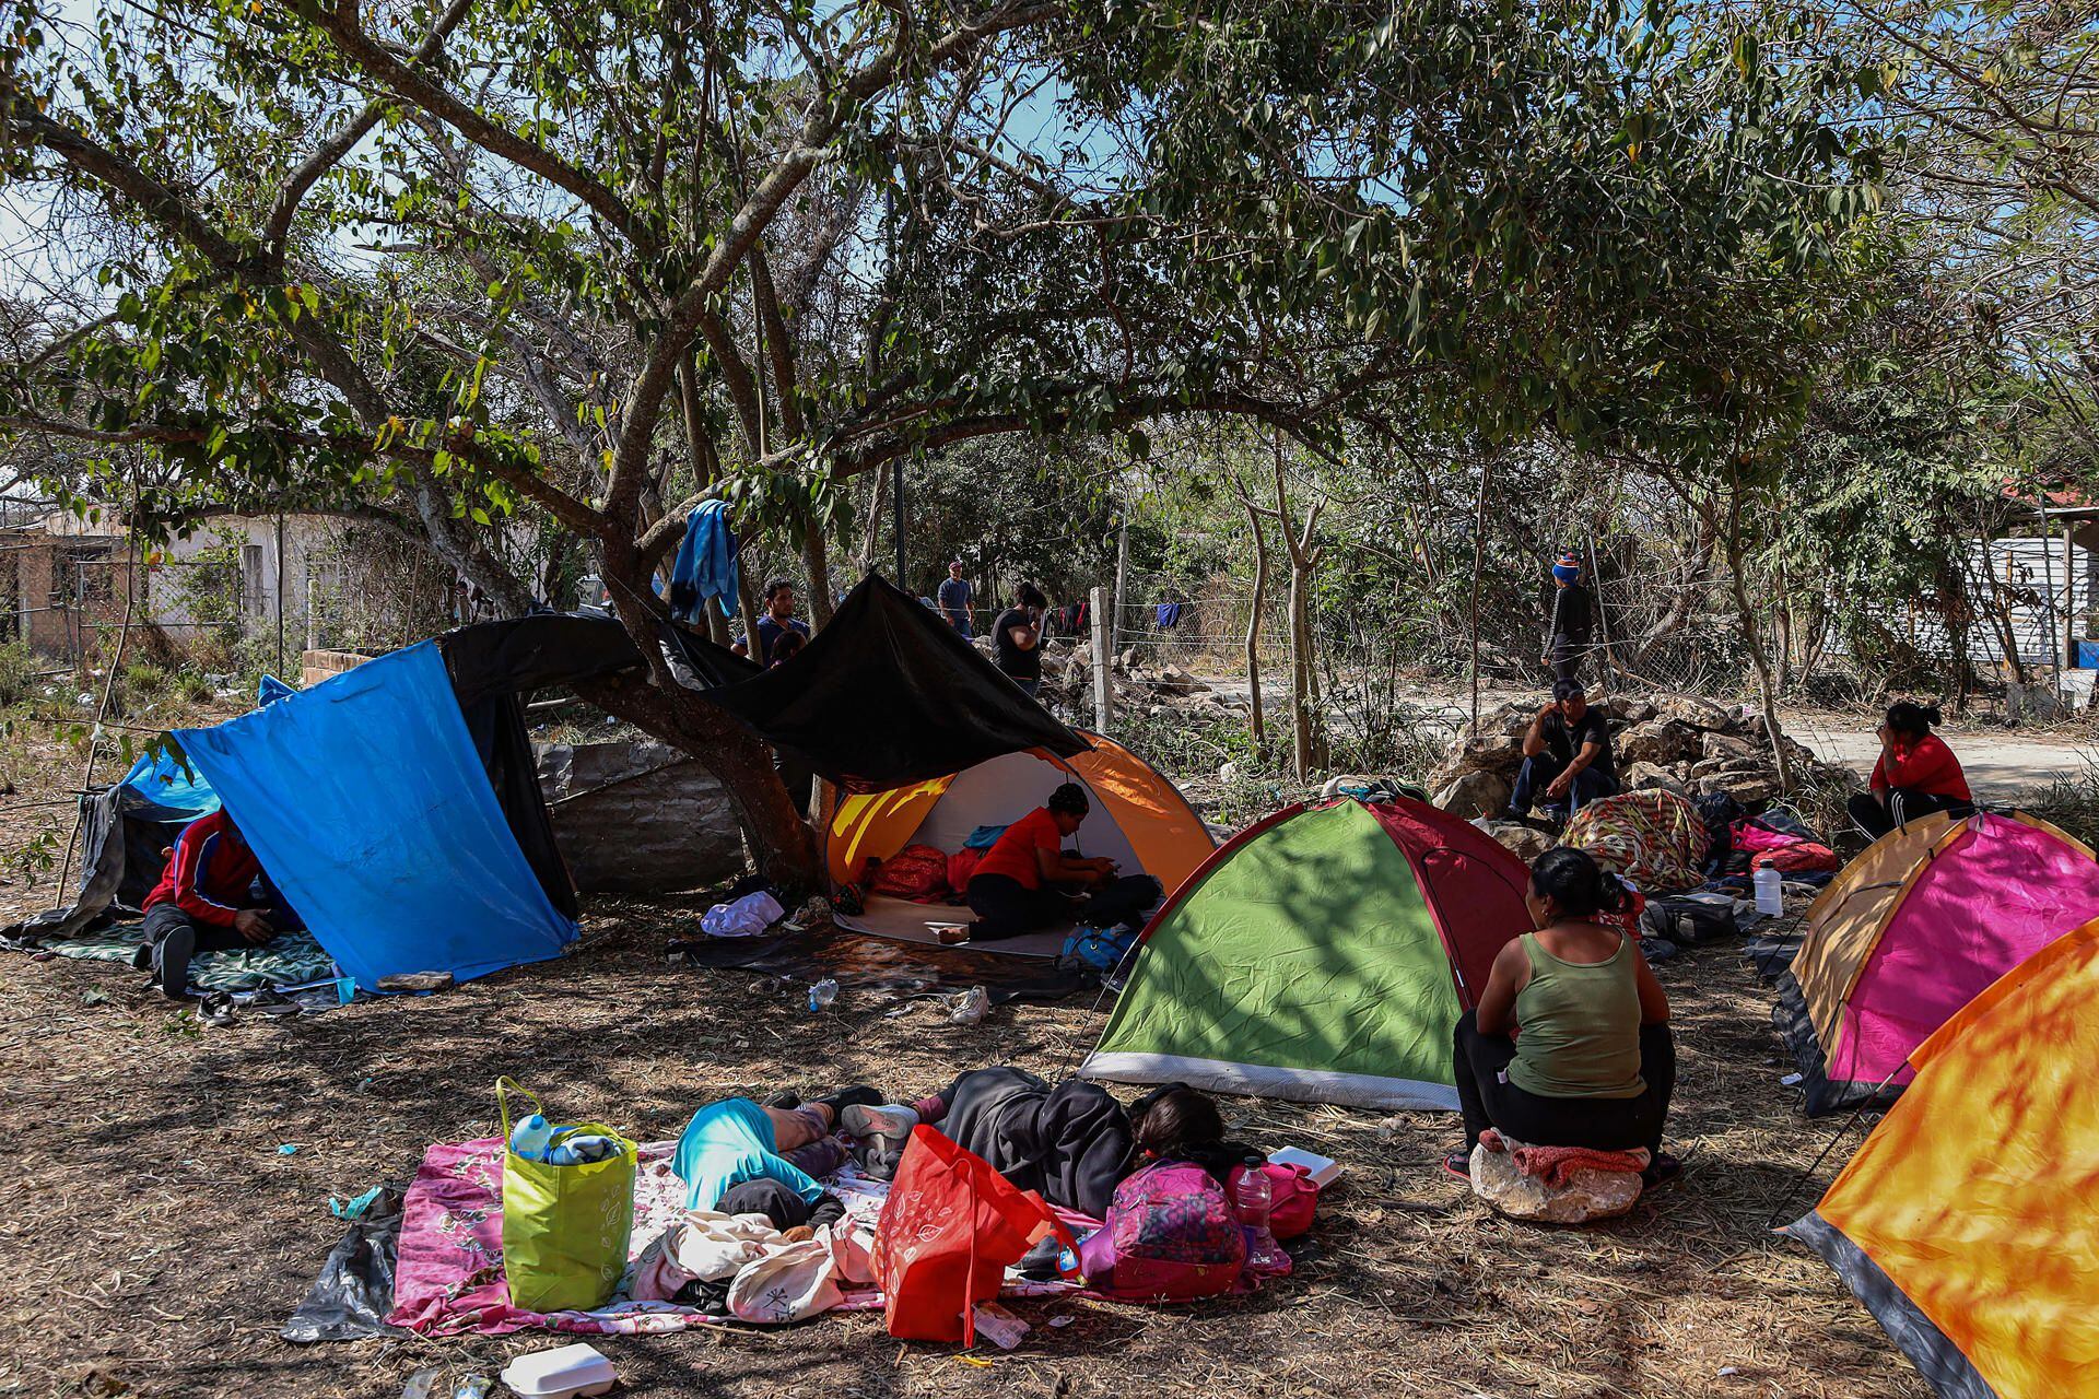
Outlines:
{"type": "Polygon", "coordinates": [[[1154,1160],[1192,1162],[1224,1183],[1253,1156],[1224,1139],[1217,1103],[1188,1084],[1165,1084],[1127,1112],[1100,1084],[1050,1084],[1026,1070],[984,1068],[955,1076],[915,1103],[856,1103],[840,1118],[865,1175],[896,1175],[911,1128],[938,1126],[1020,1189],[1104,1219],[1115,1187],[1154,1160]]]}

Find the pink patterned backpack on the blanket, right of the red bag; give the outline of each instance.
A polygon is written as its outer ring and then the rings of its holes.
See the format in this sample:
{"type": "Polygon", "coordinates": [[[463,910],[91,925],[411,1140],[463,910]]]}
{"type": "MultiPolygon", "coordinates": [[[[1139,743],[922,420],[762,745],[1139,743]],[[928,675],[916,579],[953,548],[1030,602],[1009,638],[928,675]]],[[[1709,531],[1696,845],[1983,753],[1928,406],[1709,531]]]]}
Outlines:
{"type": "Polygon", "coordinates": [[[1238,1286],[1247,1235],[1215,1177],[1157,1162],[1115,1187],[1108,1221],[1079,1246],[1079,1265],[1108,1296],[1184,1303],[1238,1286]]]}

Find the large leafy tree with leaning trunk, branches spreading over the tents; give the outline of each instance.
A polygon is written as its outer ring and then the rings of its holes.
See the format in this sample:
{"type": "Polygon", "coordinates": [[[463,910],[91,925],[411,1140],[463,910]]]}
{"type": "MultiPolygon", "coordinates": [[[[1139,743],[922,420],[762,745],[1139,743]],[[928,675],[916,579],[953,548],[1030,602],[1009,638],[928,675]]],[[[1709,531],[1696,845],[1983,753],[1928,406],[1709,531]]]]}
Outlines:
{"type": "Polygon", "coordinates": [[[1874,174],[1767,52],[1604,2],[25,0],[6,174],[99,273],[13,327],[0,424],[147,447],[69,482],[143,531],[336,510],[506,608],[506,522],[573,537],[651,657],[596,698],[793,879],[764,751],[649,644],[691,505],[821,606],[850,478],[970,438],[1759,417],[1797,367],[1725,306],[1874,174]]]}

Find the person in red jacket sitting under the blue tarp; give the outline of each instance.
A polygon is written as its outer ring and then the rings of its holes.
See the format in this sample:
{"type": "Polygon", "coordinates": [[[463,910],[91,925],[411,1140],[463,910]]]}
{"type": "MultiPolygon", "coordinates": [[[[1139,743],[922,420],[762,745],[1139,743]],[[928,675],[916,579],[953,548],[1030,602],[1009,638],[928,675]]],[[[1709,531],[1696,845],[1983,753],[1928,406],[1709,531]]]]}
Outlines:
{"type": "Polygon", "coordinates": [[[239,826],[222,810],[202,816],[174,841],[168,873],[145,896],[145,935],[160,992],[181,1000],[197,952],[260,948],[294,919],[262,875],[239,826]]]}

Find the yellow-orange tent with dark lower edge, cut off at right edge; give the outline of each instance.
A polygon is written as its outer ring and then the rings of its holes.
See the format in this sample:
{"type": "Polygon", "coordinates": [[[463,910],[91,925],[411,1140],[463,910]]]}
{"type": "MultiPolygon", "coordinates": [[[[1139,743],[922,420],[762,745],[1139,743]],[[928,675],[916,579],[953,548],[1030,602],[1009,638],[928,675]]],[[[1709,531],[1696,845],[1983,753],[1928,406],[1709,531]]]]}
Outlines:
{"type": "Polygon", "coordinates": [[[2005,973],[1910,1063],[1910,1091],[1786,1233],[1939,1395],[2095,1393],[2099,919],[2005,973]]]}

